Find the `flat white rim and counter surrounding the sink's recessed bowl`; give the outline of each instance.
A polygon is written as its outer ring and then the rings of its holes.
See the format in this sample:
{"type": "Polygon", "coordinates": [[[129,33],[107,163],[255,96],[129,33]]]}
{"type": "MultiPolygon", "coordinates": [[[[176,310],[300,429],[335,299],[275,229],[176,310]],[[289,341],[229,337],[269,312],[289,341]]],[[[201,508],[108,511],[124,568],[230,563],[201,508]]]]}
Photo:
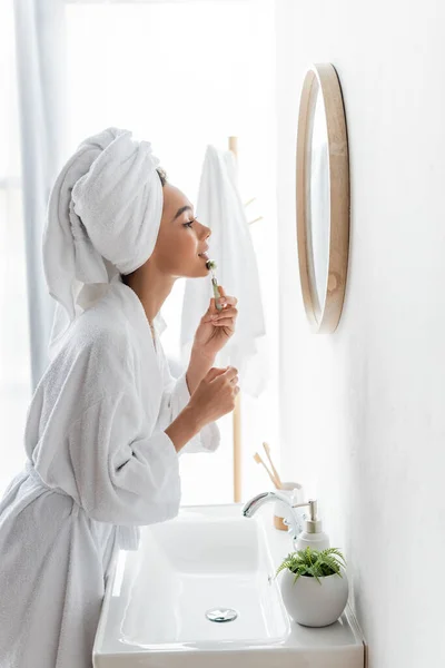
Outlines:
{"type": "MultiPolygon", "coordinates": [[[[244,503],[231,503],[227,505],[206,507],[220,510],[226,509],[233,517],[238,511],[241,514],[244,503]]],[[[198,507],[184,507],[184,511],[198,507]]],[[[182,510],[182,509],[181,509],[182,510]]],[[[266,529],[270,553],[275,570],[281,563],[283,559],[294,551],[290,537],[284,531],[275,529],[273,524],[274,504],[264,505],[257,511],[261,515],[266,529]]],[[[255,521],[247,519],[246,522],[255,521]]],[[[144,528],[141,528],[144,531],[144,528]]],[[[150,666],[152,668],[162,668],[164,666],[175,666],[179,660],[179,652],[148,652],[137,646],[126,645],[120,641],[121,620],[125,613],[125,596],[120,596],[121,582],[128,577],[125,568],[119,568],[123,563],[123,550],[117,554],[113,572],[109,579],[103,600],[101,618],[95,642],[95,667],[96,668],[121,668],[123,666],[150,666]],[[122,572],[123,571],[123,572],[122,572]],[[148,657],[148,654],[150,655],[148,657]],[[170,662],[166,655],[170,656],[170,662]],[[136,655],[136,656],[135,656],[136,655]],[[162,656],[161,656],[162,655],[162,656]],[[127,664],[127,660],[129,662],[127,664]],[[132,661],[130,660],[132,658],[132,661]],[[175,658],[175,661],[172,659],[175,658]],[[136,662],[135,662],[136,661],[136,662]]],[[[128,570],[128,569],[127,569],[128,570]]],[[[279,576],[278,576],[279,577],[279,576]]],[[[123,589],[123,588],[122,588],[123,589]]],[[[228,661],[230,668],[237,668],[238,665],[251,665],[255,668],[363,668],[365,664],[365,648],[360,630],[355,618],[347,607],[342,618],[324,628],[308,628],[290,621],[289,635],[274,648],[234,648],[219,652],[207,650],[194,650],[186,652],[187,659],[192,659],[190,665],[194,668],[227,668],[228,661]],[[246,649],[255,660],[246,664],[246,658],[241,657],[246,649]],[[228,656],[230,655],[230,657],[228,656]]],[[[186,664],[188,665],[188,660],[186,664]]],[[[184,664],[182,664],[184,665],[184,664]]]]}

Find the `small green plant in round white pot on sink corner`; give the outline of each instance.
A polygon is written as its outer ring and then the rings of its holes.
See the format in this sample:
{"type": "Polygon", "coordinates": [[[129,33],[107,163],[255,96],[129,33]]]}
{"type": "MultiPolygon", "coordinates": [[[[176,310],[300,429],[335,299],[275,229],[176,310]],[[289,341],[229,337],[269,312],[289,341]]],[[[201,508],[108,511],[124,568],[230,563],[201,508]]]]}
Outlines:
{"type": "Polygon", "coordinates": [[[283,600],[289,616],[303,626],[334,623],[348,598],[345,558],[337,548],[318,551],[307,547],[291,552],[278,567],[283,600]]]}

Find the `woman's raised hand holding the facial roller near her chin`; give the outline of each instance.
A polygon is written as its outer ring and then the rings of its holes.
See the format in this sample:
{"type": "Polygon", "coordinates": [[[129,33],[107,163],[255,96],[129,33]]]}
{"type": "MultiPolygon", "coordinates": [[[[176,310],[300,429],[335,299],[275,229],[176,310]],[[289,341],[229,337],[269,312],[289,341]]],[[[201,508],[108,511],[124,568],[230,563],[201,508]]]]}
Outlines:
{"type": "Polygon", "coordinates": [[[195,334],[194,348],[206,357],[215,357],[217,353],[226,345],[230,336],[235,333],[236,318],[238,310],[236,305],[238,299],[226,295],[224,288],[219,285],[221,295],[218,302],[222,305],[222,311],[218,311],[215,305],[215,298],[210,299],[207,313],[201,317],[201,322],[195,334]]]}

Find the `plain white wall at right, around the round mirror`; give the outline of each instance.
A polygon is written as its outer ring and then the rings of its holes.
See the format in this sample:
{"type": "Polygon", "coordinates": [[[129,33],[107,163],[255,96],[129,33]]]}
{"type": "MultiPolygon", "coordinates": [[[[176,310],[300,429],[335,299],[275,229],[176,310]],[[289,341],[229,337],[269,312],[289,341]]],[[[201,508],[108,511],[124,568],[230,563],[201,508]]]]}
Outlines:
{"type": "Polygon", "coordinates": [[[277,2],[281,448],[347,554],[372,668],[445,661],[444,4],[277,2]],[[340,77],[352,238],[343,318],[305,322],[295,141],[306,67],[340,77]]]}

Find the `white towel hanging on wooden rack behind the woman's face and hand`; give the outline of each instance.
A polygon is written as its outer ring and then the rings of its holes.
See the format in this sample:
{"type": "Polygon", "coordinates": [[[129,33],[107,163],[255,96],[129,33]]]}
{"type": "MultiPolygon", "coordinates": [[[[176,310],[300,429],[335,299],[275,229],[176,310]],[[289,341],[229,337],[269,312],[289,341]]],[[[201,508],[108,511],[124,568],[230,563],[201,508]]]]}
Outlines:
{"type": "MultiPolygon", "coordinates": [[[[258,267],[238,191],[233,151],[207,146],[196,215],[211,229],[208,255],[217,264],[218,283],[226,294],[238,299],[236,332],[218,354],[216,365],[238,369],[241,391],[258,396],[268,375],[264,353],[266,330],[258,267]]],[[[211,296],[210,276],[186,281],[180,340],[182,362],[188,360],[196,328],[211,296]]]]}

